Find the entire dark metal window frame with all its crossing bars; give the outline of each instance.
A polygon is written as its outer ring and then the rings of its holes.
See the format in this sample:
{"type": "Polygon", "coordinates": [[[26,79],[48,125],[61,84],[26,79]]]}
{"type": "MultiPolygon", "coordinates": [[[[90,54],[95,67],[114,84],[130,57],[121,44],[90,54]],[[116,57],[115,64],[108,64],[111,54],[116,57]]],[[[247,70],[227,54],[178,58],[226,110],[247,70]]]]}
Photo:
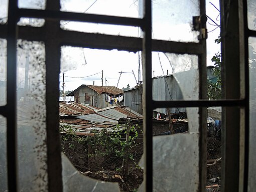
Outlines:
{"type": "MultiPolygon", "coordinates": [[[[59,99],[59,72],[60,72],[60,47],[80,46],[86,48],[118,49],[124,51],[143,51],[143,99],[144,99],[144,127],[145,129],[145,162],[146,162],[146,191],[153,190],[153,144],[152,144],[152,110],[159,107],[199,107],[200,111],[200,184],[199,191],[204,190],[206,170],[206,107],[222,106],[223,119],[226,130],[223,132],[225,141],[222,144],[222,190],[247,191],[248,182],[248,125],[249,125],[249,81],[248,81],[248,38],[256,37],[256,32],[247,27],[247,5],[246,1],[236,0],[234,4],[228,5],[228,1],[221,1],[221,29],[222,29],[222,53],[225,61],[231,61],[230,39],[225,36],[229,29],[235,36],[238,60],[233,65],[223,67],[223,99],[210,101],[206,98],[206,66],[199,65],[200,96],[197,101],[154,101],[152,99],[151,63],[152,51],[171,52],[176,54],[196,54],[199,63],[206,62],[206,42],[181,43],[162,40],[152,40],[152,2],[144,0],[144,18],[122,18],[113,16],[101,16],[93,14],[79,14],[71,12],[60,12],[60,3],[57,0],[47,1],[45,10],[19,9],[17,0],[9,1],[8,24],[0,25],[0,38],[8,41],[8,64],[7,64],[7,104],[0,107],[0,114],[7,118],[7,158],[8,158],[8,187],[10,191],[18,190],[17,177],[17,104],[16,104],[16,46],[17,39],[28,41],[44,41],[46,48],[46,108],[47,108],[47,156],[48,156],[48,189],[49,191],[62,191],[62,167],[61,150],[59,140],[58,122],[58,99],[59,99]],[[239,5],[239,6],[238,6],[239,5]],[[242,5],[242,6],[241,6],[242,5]],[[239,9],[238,9],[239,7],[239,9]],[[229,11],[229,19],[226,11],[229,11]],[[43,18],[45,25],[41,28],[28,26],[17,26],[21,17],[43,18]],[[237,18],[238,24],[233,24],[230,18],[237,18]],[[121,37],[101,34],[89,34],[80,32],[64,31],[60,29],[60,20],[83,21],[102,24],[126,25],[141,27],[144,31],[144,38],[121,37]],[[51,29],[51,30],[47,30],[51,29]],[[40,34],[46,34],[42,37],[40,34]],[[39,34],[39,35],[38,35],[39,34]],[[58,34],[58,36],[57,36],[58,34]],[[58,37],[58,39],[56,39],[58,37]],[[66,38],[69,37],[69,38],[66,38]],[[97,38],[98,41],[94,41],[97,38]],[[81,41],[81,39],[83,41],[81,41]],[[236,42],[237,43],[237,42],[236,42]],[[235,78],[228,72],[236,69],[240,77],[235,78]],[[238,73],[239,71],[239,73],[238,73]],[[234,90],[226,86],[234,83],[234,90]],[[241,97],[242,96],[242,97],[241,97]],[[237,108],[235,108],[237,107],[237,108]],[[232,122],[235,113],[237,121],[232,122]],[[235,132],[230,125],[237,128],[235,132]],[[241,125],[241,126],[240,126],[241,125]],[[232,132],[231,132],[232,131],[232,132]],[[232,135],[235,137],[232,138],[232,135]],[[230,143],[230,142],[231,143],[230,143]],[[228,150],[235,142],[234,150],[228,150]],[[225,155],[227,154],[228,155],[225,155]],[[202,158],[203,157],[203,158],[202,158]],[[235,168],[230,169],[232,161],[235,168]],[[231,163],[231,164],[229,164],[231,163]],[[232,178],[238,178],[236,185],[231,185],[232,178]]],[[[205,14],[205,1],[200,0],[200,15],[205,14]]],[[[229,33],[231,33],[229,31],[229,33]]]]}

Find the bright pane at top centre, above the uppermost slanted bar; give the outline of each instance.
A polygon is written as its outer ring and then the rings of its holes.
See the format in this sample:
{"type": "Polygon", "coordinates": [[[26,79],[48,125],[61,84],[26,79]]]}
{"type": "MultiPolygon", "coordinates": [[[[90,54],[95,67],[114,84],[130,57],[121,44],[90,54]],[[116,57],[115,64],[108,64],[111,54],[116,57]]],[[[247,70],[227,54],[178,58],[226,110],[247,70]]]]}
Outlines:
{"type": "MultiPolygon", "coordinates": [[[[139,1],[134,0],[61,0],[61,11],[119,17],[139,17],[139,1]]],[[[141,8],[140,8],[141,9],[141,8]]]]}

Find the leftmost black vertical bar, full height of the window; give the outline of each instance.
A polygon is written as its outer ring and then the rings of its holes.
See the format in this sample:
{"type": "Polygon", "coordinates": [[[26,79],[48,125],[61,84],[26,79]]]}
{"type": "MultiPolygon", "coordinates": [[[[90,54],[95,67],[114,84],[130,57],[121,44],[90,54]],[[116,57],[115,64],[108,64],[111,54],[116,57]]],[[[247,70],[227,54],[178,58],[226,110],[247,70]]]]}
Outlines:
{"type": "Polygon", "coordinates": [[[9,1],[7,36],[7,160],[8,189],[18,190],[17,177],[17,111],[16,111],[16,46],[17,0],[9,1]]]}

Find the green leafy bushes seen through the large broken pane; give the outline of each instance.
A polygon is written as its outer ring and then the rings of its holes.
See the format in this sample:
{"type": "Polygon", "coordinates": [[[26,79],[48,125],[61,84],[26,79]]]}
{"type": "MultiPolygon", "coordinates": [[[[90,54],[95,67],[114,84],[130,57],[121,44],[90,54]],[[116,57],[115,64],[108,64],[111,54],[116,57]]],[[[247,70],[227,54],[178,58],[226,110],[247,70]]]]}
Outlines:
{"type": "MultiPolygon", "coordinates": [[[[91,131],[91,136],[76,135],[75,129],[70,126],[60,125],[62,135],[62,147],[68,146],[70,149],[75,149],[74,143],[85,145],[88,149],[88,157],[107,157],[108,155],[119,157],[123,162],[130,160],[135,162],[134,151],[137,147],[136,138],[138,131],[142,129],[138,125],[125,124],[125,129],[115,126],[112,131],[100,129],[100,131],[91,131]],[[68,144],[68,145],[67,145],[68,144]]],[[[118,169],[118,167],[117,167],[118,169]]]]}

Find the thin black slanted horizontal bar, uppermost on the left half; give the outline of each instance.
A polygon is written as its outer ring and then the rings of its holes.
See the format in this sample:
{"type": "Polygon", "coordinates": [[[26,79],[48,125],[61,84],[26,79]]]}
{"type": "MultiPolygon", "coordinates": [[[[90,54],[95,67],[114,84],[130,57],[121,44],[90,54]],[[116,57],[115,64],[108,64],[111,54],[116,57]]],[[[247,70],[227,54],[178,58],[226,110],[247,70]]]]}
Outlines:
{"type": "Polygon", "coordinates": [[[53,20],[66,20],[74,22],[88,22],[88,23],[100,23],[100,24],[112,24],[122,26],[137,26],[143,27],[143,19],[126,18],[116,16],[104,16],[96,14],[84,14],[73,12],[61,12],[50,10],[32,10],[32,9],[18,9],[18,16],[25,18],[42,18],[53,20]]]}

